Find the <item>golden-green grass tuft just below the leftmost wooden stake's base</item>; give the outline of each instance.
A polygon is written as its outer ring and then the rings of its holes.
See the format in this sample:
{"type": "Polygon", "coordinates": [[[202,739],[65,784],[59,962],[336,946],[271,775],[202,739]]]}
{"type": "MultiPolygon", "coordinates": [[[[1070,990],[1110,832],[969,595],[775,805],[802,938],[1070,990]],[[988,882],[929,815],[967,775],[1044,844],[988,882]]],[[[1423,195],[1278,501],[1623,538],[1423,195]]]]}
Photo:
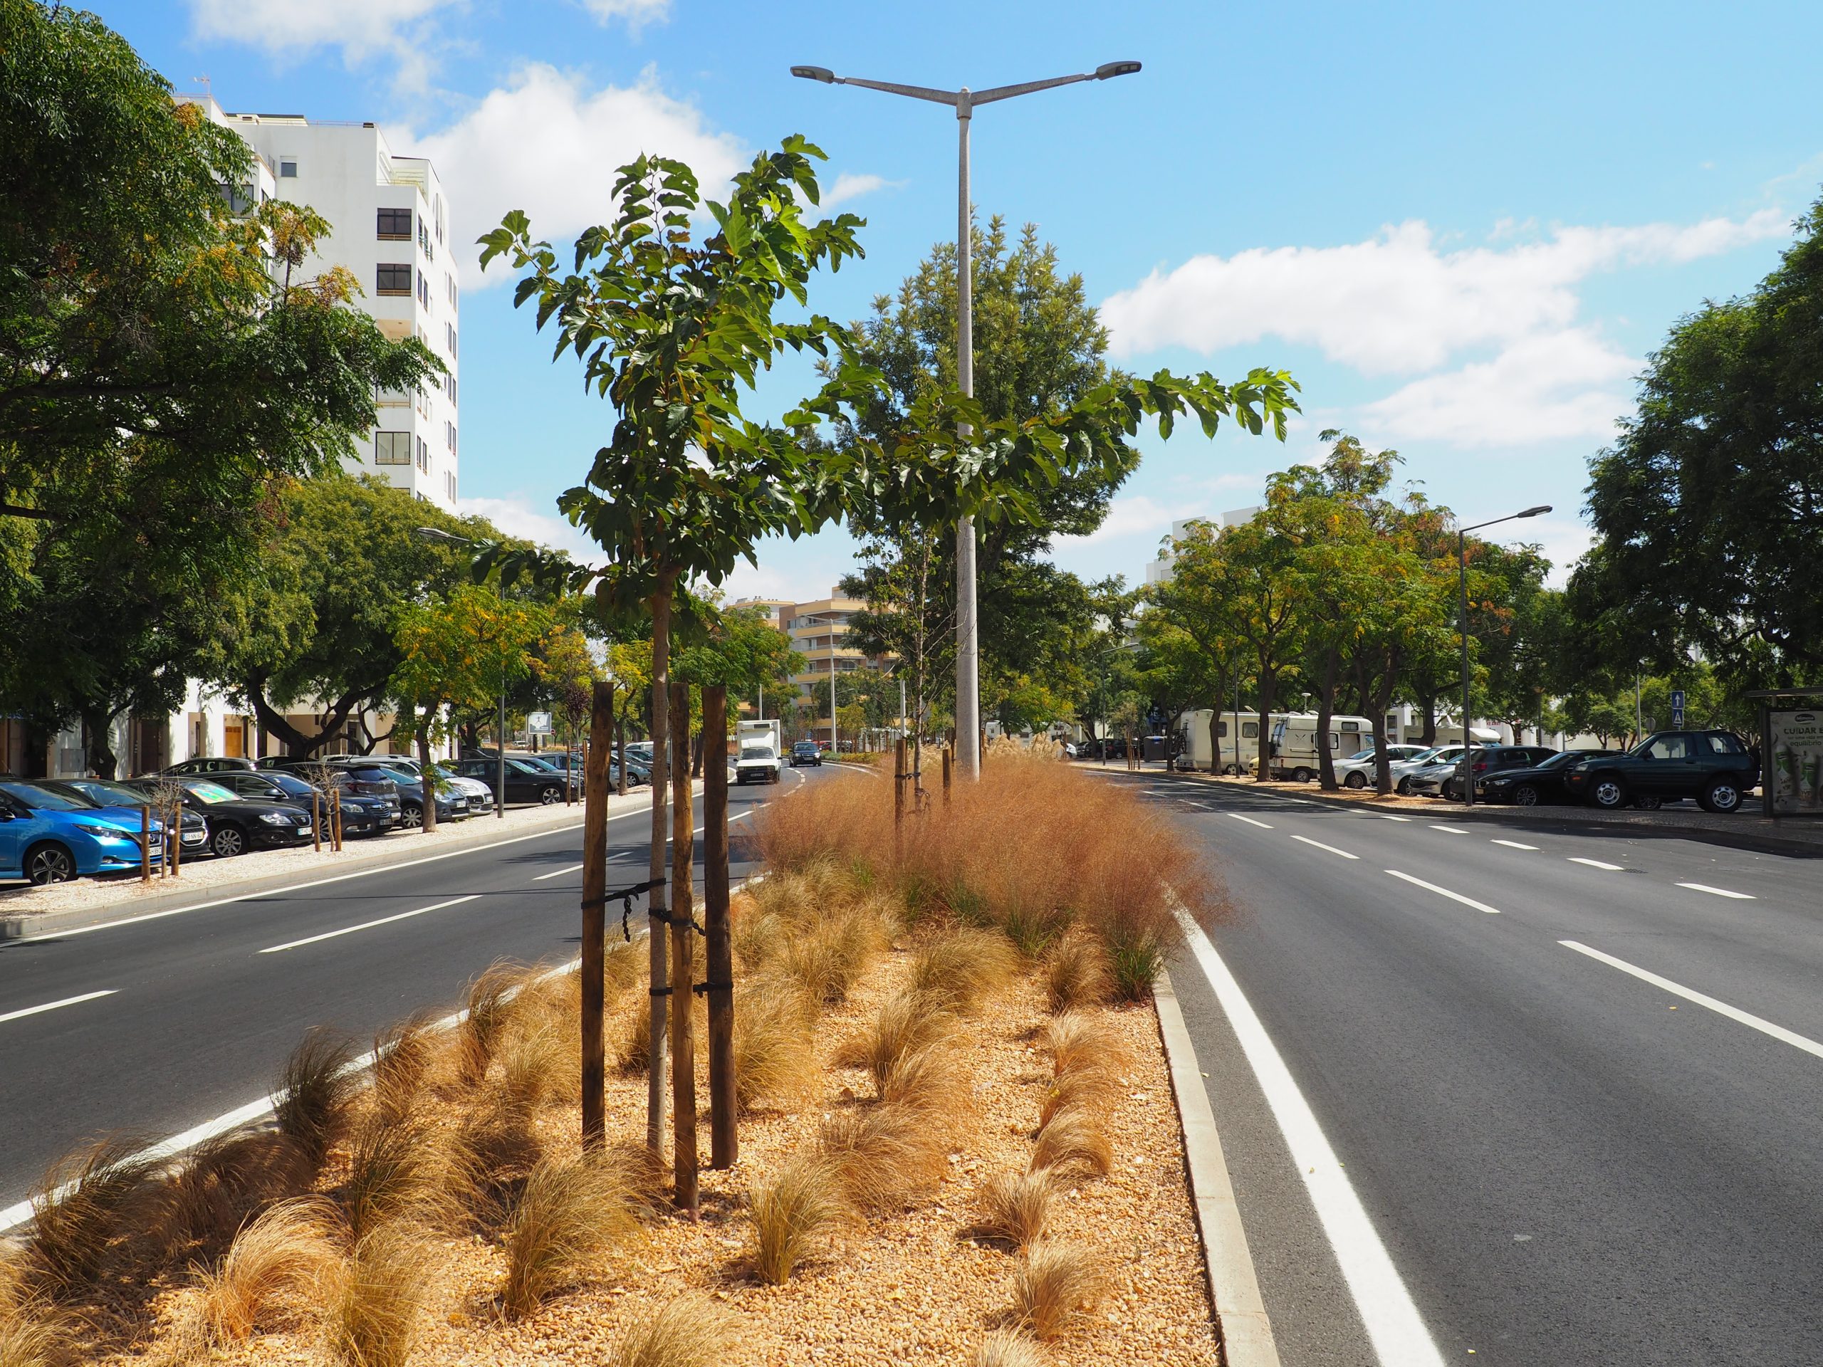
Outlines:
{"type": "Polygon", "coordinates": [[[501,1309],[512,1320],[532,1314],[554,1294],[576,1285],[600,1265],[602,1254],[636,1228],[627,1187],[605,1163],[538,1163],[507,1225],[501,1309]]]}

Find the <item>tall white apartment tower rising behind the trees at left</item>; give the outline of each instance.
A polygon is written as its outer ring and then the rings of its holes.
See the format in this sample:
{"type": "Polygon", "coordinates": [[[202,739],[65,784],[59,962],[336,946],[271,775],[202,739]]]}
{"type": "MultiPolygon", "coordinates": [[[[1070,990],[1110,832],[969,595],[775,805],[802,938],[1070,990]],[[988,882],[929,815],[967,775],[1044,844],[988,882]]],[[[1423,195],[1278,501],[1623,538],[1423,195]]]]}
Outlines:
{"type": "Polygon", "coordinates": [[[417,337],[447,374],[412,394],[381,392],[379,423],[345,457],[352,472],[377,474],[454,510],[458,492],[458,341],[461,286],[450,252],[448,199],[423,157],[399,157],[376,124],[303,115],[224,113],[208,95],[180,95],[232,128],[257,157],[248,199],[308,204],[330,222],[304,275],[345,266],[361,283],[361,306],[394,341],[417,337]]]}

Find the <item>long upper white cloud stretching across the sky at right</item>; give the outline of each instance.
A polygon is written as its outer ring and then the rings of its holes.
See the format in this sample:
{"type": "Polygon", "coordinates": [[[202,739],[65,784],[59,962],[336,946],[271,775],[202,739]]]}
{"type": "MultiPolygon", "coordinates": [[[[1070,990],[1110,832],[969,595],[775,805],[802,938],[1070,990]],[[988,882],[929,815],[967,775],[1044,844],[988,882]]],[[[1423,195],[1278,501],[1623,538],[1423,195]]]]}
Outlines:
{"type": "MultiPolygon", "coordinates": [[[[1499,241],[1517,231],[1497,226],[1499,241]]],[[[1739,222],[1557,228],[1542,241],[1446,252],[1413,219],[1345,246],[1192,257],[1110,295],[1101,321],[1123,357],[1274,335],[1365,374],[1411,374],[1460,350],[1571,326],[1575,286],[1595,272],[1695,261],[1787,231],[1779,210],[1761,210],[1739,222]]]]}

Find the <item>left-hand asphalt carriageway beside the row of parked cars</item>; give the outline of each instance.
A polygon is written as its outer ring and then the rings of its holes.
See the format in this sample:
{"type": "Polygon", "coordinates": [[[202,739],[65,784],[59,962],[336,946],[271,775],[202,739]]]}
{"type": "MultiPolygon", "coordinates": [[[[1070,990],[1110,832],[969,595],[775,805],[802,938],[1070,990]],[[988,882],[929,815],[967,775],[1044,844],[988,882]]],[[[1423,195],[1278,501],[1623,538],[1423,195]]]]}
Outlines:
{"type": "MultiPolygon", "coordinates": [[[[731,787],[735,880],[751,807],[798,782],[859,780],[802,769],[784,789],[731,787]]],[[[607,831],[609,888],[644,882],[649,809],[607,831]]],[[[696,855],[700,888],[700,840],[696,855]]],[[[0,946],[0,1208],[89,1136],[153,1143],[257,1101],[310,1026],[365,1041],[412,1012],[456,1010],[496,959],[574,957],[580,860],[578,815],[407,868],[0,946]],[[67,1004],[40,1010],[55,1002],[67,1004]]]]}

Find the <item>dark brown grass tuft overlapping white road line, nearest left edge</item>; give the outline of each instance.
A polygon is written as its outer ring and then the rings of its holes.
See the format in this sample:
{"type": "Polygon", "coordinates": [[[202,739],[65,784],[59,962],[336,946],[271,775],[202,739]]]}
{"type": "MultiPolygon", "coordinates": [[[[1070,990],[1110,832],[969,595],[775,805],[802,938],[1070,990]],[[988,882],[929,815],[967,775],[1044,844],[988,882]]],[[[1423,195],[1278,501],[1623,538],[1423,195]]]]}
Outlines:
{"type": "Polygon", "coordinates": [[[100,1276],[115,1241],[137,1227],[155,1163],[139,1141],[100,1139],[51,1165],[33,1194],[33,1232],[20,1269],[31,1296],[62,1298],[100,1276]]]}

